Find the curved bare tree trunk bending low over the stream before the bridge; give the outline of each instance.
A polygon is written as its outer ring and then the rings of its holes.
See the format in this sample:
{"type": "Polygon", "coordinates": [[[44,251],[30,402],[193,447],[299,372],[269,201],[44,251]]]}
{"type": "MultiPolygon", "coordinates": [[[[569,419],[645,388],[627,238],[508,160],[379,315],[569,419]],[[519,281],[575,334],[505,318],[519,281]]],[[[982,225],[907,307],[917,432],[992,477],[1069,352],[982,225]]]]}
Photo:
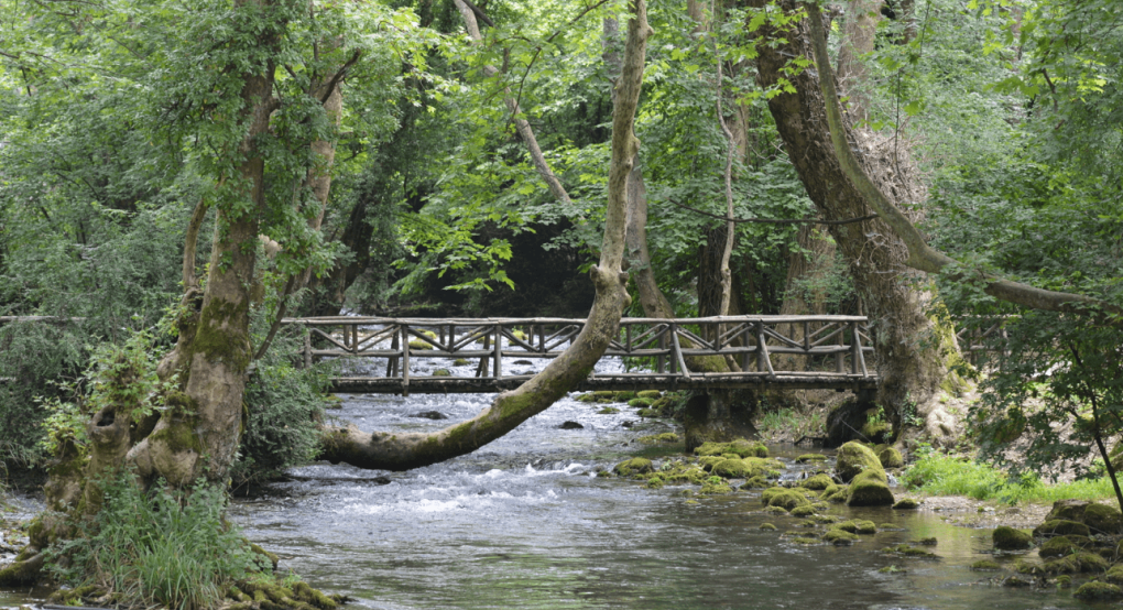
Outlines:
{"type": "Polygon", "coordinates": [[[565,395],[592,371],[615,337],[620,317],[631,298],[628,275],[622,270],[628,174],[639,140],[632,135],[636,107],[643,75],[647,24],[643,0],[629,4],[623,73],[612,113],[612,161],[609,166],[609,199],[600,264],[591,270],[596,300],[585,328],[564,354],[550,362],[518,389],[503,392],[478,416],[435,434],[367,434],[355,427],[337,428],[323,439],[321,457],[365,468],[407,470],[471,453],[514,429],[565,395]]]}

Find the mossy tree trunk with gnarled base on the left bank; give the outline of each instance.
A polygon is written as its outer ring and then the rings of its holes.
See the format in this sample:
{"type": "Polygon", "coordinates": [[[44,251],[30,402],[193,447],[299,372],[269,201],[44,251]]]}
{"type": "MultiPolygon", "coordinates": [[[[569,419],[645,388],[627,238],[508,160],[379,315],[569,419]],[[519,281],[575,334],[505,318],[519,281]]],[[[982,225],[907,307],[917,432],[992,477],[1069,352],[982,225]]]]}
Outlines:
{"type": "MultiPolygon", "coordinates": [[[[283,24],[268,18],[268,2],[244,0],[238,10],[264,16],[253,37],[263,48],[277,44],[283,24]]],[[[274,66],[263,62],[241,74],[240,136],[229,173],[217,181],[218,222],[213,235],[210,274],[195,313],[194,243],[206,206],[193,215],[185,248],[186,295],[175,349],[161,364],[165,379],[179,375],[176,389],[165,397],[167,409],[140,421],[133,419],[137,404],[119,400],[91,413],[89,447],[73,445],[61,452],[45,485],[52,511],[92,515],[100,507],[98,477],[122,466],[133,467],[138,483],[164,479],[185,485],[197,479],[227,481],[241,433],[243,393],[253,352],[249,343],[249,286],[258,247],[258,219],[264,204],[264,158],[258,148],[276,109],[274,66]]],[[[128,379],[121,379],[128,383],[128,379]]],[[[122,392],[128,394],[128,392],[122,392]]],[[[43,565],[43,550],[69,536],[65,520],[46,515],[33,528],[30,544],[18,561],[0,570],[0,584],[34,582],[43,565]]]]}

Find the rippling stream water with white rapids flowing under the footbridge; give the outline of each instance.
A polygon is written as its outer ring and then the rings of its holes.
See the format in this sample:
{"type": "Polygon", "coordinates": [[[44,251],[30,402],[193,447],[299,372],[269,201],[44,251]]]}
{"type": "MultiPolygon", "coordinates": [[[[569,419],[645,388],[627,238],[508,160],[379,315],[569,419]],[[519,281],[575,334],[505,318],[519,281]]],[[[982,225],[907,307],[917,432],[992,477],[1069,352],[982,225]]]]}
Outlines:
{"type": "MultiPolygon", "coordinates": [[[[332,413],[365,430],[423,431],[448,421],[412,416],[456,421],[491,398],[355,395],[332,413]]],[[[675,453],[637,441],[670,424],[627,408],[597,415],[601,407],[564,399],[472,455],[405,473],[296,468],[237,499],[232,519],[283,568],[368,608],[1087,608],[1069,591],[990,584],[995,573],[968,568],[992,557],[990,531],[931,512],[832,507],[893,527],[850,547],[800,546],[783,536],[800,520],[761,512],[758,493],[687,498],[686,488],[597,477],[634,454],[659,462],[675,453]],[[565,421],[584,428],[560,429],[565,421]],[[766,521],[778,530],[759,529],[766,521]],[[939,540],[929,547],[939,559],[880,552],[925,537],[939,540]],[[905,572],[879,572],[889,565],[905,572]]],[[[798,475],[792,458],[805,449],[770,449],[789,465],[786,476],[798,475]]],[[[0,591],[0,607],[35,599],[0,591]]]]}

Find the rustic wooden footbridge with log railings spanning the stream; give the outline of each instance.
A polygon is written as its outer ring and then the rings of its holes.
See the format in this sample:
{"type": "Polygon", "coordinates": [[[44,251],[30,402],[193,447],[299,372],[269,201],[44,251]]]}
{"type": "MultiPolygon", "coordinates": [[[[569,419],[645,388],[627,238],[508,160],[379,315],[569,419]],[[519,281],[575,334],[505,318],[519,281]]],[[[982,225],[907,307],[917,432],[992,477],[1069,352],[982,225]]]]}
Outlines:
{"type": "MultiPolygon", "coordinates": [[[[508,372],[511,358],[554,358],[581,333],[581,319],[286,318],[302,326],[303,363],[348,358],[373,373],[332,379],[340,393],[497,392],[529,372],[508,372]],[[459,366],[451,366],[460,359],[459,366]],[[468,362],[465,365],[464,362],[468,362]],[[422,366],[419,366],[422,363],[422,366]],[[433,368],[439,365],[441,368],[433,368]],[[471,368],[456,375],[455,368],[471,368]],[[420,370],[426,368],[427,373],[420,370]],[[447,373],[447,374],[446,374],[447,373]]],[[[621,373],[593,373],[575,390],[833,389],[877,386],[867,319],[857,316],[736,316],[690,319],[624,318],[604,353],[624,358],[621,373]],[[795,363],[777,368],[776,355],[795,363]],[[716,356],[739,372],[691,372],[687,359],[716,356]]],[[[522,363],[526,366],[527,363],[522,363]]]]}

